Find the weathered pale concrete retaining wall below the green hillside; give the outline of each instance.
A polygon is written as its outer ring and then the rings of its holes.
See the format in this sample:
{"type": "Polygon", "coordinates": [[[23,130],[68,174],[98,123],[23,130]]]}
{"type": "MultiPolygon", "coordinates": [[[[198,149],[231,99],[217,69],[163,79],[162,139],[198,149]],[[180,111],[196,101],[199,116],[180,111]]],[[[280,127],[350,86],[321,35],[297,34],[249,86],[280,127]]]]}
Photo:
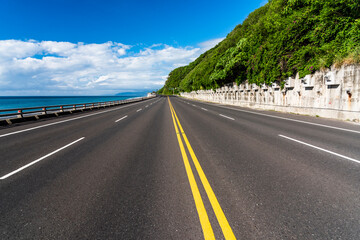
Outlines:
{"type": "Polygon", "coordinates": [[[181,93],[181,96],[215,103],[237,105],[264,110],[275,110],[336,118],[360,120],[360,66],[318,71],[300,79],[289,78],[281,88],[249,84],[224,86],[216,90],[181,93]]]}

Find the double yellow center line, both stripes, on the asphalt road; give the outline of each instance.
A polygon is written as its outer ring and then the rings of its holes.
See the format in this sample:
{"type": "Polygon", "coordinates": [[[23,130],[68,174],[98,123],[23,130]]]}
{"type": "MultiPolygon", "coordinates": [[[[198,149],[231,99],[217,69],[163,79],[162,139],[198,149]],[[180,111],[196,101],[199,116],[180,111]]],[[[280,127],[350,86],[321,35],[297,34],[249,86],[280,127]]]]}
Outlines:
{"type": "Polygon", "coordinates": [[[199,175],[199,178],[201,180],[201,183],[204,186],[205,192],[209,198],[210,204],[214,210],[215,216],[219,222],[219,225],[221,227],[221,230],[223,232],[223,235],[225,237],[225,239],[236,239],[235,235],[229,225],[229,222],[227,221],[225,214],[223,212],[223,210],[221,209],[221,206],[215,196],[214,191],[212,190],[209,181],[207,180],[204,171],[202,170],[200,163],[194,153],[194,150],[192,149],[189,140],[186,137],[186,134],[184,132],[184,129],[182,128],[179,118],[176,115],[176,112],[174,110],[174,107],[171,104],[170,98],[168,98],[169,101],[169,106],[170,106],[170,111],[171,111],[171,116],[173,119],[173,123],[174,123],[174,128],[175,128],[175,132],[176,132],[176,136],[179,142],[179,147],[180,147],[180,151],[181,151],[181,155],[183,157],[184,160],[184,165],[185,165],[185,169],[186,169],[186,174],[188,176],[189,179],[189,183],[190,183],[190,187],[191,187],[191,192],[193,194],[194,197],[194,201],[195,201],[195,206],[199,215],[199,219],[200,219],[200,224],[204,233],[204,238],[205,239],[215,239],[215,235],[214,235],[214,231],[212,229],[211,223],[209,221],[209,217],[208,214],[206,212],[205,206],[204,206],[204,202],[201,198],[201,194],[199,191],[199,188],[197,186],[193,171],[191,170],[191,165],[183,144],[183,140],[186,144],[186,147],[190,153],[191,159],[195,165],[196,171],[199,175]]]}

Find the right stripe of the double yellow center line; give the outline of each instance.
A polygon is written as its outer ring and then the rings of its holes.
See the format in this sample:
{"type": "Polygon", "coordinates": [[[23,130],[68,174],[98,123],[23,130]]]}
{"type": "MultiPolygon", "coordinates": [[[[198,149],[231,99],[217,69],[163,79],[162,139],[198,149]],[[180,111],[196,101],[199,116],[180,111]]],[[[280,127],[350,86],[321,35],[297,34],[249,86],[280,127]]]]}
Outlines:
{"type": "Polygon", "coordinates": [[[191,158],[192,158],[193,163],[195,165],[195,168],[196,168],[196,170],[197,170],[197,172],[199,174],[200,180],[201,180],[201,182],[202,182],[202,184],[204,186],[205,192],[206,192],[206,194],[207,194],[207,196],[209,198],[211,206],[212,206],[212,208],[213,208],[213,210],[215,212],[216,218],[217,218],[217,220],[219,222],[219,225],[220,225],[221,230],[222,230],[222,232],[224,234],[224,237],[225,237],[225,239],[236,239],[236,237],[235,237],[235,235],[234,235],[234,233],[233,233],[233,231],[232,231],[232,229],[230,227],[230,224],[227,221],[226,216],[225,216],[225,214],[224,214],[224,212],[223,212],[223,210],[222,210],[222,208],[221,208],[221,206],[220,206],[220,204],[219,204],[219,202],[218,202],[218,200],[217,200],[217,198],[215,196],[215,193],[212,190],[212,188],[210,186],[210,183],[207,180],[204,171],[202,170],[202,167],[201,167],[201,165],[200,165],[200,163],[199,163],[199,161],[198,161],[198,159],[197,159],[197,157],[196,157],[196,155],[194,153],[194,150],[192,149],[192,147],[190,145],[190,142],[189,142],[188,138],[186,137],[184,129],[182,128],[182,126],[180,124],[179,118],[176,115],[176,112],[174,110],[174,107],[171,104],[170,99],[169,99],[169,104],[170,104],[170,108],[173,109],[173,114],[174,114],[174,116],[176,118],[176,122],[179,125],[181,134],[182,134],[182,136],[184,138],[184,141],[186,143],[186,146],[187,146],[187,148],[188,148],[188,150],[190,152],[191,158]]]}

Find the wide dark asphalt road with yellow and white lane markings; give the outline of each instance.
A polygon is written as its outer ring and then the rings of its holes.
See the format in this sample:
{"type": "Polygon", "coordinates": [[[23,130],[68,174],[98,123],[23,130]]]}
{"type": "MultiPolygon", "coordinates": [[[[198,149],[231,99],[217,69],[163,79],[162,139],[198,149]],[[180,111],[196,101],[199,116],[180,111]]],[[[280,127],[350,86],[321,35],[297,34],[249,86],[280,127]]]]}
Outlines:
{"type": "Polygon", "coordinates": [[[360,239],[358,124],[169,100],[0,129],[0,239],[360,239]]]}

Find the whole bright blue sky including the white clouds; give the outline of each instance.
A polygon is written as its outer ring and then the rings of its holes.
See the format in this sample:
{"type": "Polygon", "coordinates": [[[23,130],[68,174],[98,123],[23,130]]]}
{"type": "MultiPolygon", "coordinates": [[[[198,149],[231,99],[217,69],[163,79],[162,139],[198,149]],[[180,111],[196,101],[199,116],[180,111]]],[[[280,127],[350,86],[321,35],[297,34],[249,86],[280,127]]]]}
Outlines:
{"type": "Polygon", "coordinates": [[[0,95],[160,88],[266,2],[0,0],[0,95]]]}

